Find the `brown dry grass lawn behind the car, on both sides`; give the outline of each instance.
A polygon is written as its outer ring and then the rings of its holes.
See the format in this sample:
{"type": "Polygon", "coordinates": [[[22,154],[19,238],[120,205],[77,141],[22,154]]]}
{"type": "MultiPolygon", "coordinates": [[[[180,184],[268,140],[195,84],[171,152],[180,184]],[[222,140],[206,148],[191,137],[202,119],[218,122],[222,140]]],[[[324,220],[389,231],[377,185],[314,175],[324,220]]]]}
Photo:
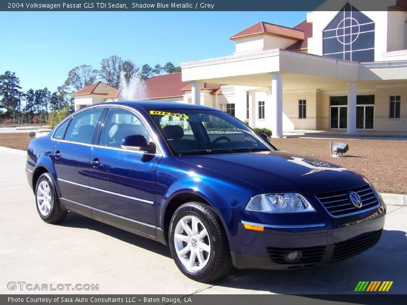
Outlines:
{"type": "MultiPolygon", "coordinates": [[[[0,146],[26,150],[27,133],[0,134],[0,146]]],[[[281,150],[334,163],[365,175],[382,193],[407,194],[407,141],[333,140],[346,142],[343,158],[329,156],[329,139],[272,139],[281,150]]]]}

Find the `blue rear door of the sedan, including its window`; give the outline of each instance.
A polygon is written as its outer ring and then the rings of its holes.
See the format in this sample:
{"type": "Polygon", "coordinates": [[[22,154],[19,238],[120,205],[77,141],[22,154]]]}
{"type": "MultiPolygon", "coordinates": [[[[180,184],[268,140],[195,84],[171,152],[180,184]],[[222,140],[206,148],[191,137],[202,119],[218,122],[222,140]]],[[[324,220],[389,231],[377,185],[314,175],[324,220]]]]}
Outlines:
{"type": "MultiPolygon", "coordinates": [[[[57,143],[52,160],[60,196],[68,201],[89,205],[89,159],[99,119],[104,108],[79,112],[72,117],[63,139],[57,143]]],[[[58,131],[58,130],[57,130],[58,131]]]]}

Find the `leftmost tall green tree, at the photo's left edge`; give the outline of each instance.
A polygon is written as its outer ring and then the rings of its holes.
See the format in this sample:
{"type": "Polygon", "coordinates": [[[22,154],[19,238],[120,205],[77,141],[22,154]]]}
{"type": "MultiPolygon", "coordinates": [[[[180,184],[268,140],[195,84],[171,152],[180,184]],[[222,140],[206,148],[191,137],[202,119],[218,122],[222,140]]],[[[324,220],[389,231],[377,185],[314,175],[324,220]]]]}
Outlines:
{"type": "Polygon", "coordinates": [[[21,100],[20,80],[15,73],[6,71],[0,75],[0,108],[6,109],[6,117],[12,117],[21,100]]]}

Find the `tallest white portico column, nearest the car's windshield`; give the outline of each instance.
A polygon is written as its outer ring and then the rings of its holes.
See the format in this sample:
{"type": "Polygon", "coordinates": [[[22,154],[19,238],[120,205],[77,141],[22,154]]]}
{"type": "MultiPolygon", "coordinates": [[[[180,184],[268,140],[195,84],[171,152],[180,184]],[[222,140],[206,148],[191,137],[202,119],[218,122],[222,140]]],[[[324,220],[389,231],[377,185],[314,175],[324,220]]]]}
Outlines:
{"type": "Polygon", "coordinates": [[[273,109],[273,138],[283,137],[283,81],[279,73],[271,74],[271,107],[273,109]]]}

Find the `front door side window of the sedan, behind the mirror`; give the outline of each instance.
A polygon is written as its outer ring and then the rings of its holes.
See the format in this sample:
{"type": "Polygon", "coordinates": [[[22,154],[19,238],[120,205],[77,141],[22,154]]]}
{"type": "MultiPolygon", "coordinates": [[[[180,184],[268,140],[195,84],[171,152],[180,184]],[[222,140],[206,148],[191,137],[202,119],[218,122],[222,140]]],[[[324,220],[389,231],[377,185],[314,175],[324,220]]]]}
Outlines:
{"type": "Polygon", "coordinates": [[[131,135],[142,135],[146,137],[148,143],[152,141],[146,126],[137,115],[125,109],[109,108],[99,145],[120,148],[122,140],[131,135]]]}

